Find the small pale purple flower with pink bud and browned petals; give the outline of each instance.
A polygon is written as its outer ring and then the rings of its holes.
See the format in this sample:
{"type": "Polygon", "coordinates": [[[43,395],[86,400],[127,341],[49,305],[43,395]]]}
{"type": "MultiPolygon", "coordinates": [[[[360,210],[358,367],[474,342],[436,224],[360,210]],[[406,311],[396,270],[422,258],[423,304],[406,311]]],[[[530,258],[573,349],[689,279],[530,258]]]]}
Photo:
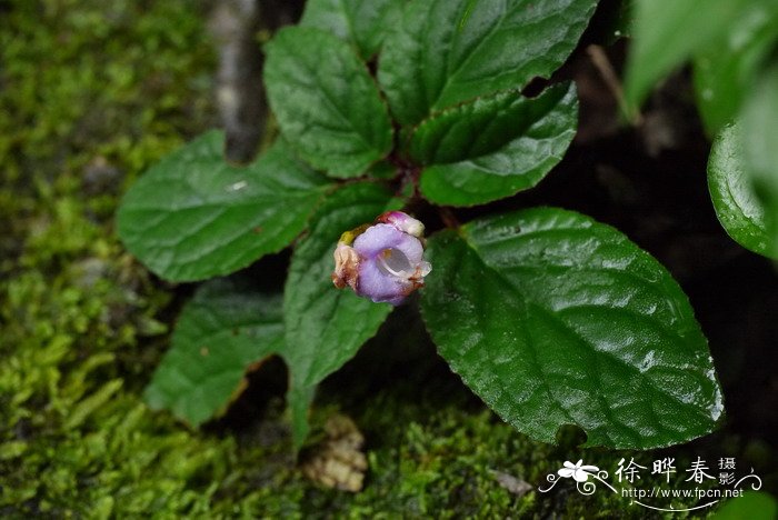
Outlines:
{"type": "Polygon", "coordinates": [[[373,226],[345,232],[335,250],[335,287],[349,286],[377,303],[400,304],[423,287],[432,269],[422,259],[423,232],[421,222],[401,211],[387,211],[373,226]]]}

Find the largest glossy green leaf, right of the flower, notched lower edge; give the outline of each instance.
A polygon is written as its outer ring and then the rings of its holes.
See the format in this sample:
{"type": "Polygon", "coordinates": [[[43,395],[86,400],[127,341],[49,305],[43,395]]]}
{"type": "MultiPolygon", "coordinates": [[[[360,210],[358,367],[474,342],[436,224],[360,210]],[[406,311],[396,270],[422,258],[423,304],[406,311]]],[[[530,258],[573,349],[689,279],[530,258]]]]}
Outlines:
{"type": "Polygon", "coordinates": [[[553,442],[655,448],[722,413],[705,337],[665,268],[617,230],[537,208],[429,241],[421,309],[440,354],[506,421],[553,442]]]}

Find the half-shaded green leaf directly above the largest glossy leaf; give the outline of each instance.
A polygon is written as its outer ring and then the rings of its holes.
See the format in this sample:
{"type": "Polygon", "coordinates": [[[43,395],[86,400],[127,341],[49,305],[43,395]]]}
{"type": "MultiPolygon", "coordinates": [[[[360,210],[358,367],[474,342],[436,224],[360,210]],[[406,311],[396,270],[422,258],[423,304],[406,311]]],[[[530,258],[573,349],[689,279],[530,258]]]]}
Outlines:
{"type": "Polygon", "coordinates": [[[460,104],[422,122],[411,156],[428,166],[420,188],[431,202],[472,206],[536,186],[576,134],[575,86],[537,99],[505,92],[460,104]]]}

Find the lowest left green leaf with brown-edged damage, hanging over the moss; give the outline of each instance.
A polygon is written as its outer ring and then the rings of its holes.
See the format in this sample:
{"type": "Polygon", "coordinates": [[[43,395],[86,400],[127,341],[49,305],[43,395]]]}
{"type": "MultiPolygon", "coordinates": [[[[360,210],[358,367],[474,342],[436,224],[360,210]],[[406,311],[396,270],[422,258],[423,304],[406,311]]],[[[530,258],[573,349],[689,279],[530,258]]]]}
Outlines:
{"type": "Polygon", "coordinates": [[[280,296],[230,279],[211,280],[183,308],[146,400],[198,426],[242,391],[247,368],[283,346],[280,296]]]}

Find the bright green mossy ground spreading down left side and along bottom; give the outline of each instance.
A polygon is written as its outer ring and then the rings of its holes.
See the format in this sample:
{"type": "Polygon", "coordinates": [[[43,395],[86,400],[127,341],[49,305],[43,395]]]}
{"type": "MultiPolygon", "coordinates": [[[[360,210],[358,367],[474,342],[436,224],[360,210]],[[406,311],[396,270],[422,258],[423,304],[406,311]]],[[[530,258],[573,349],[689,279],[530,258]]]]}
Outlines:
{"type": "Polygon", "coordinates": [[[300,476],[278,398],[248,428],[228,417],[202,431],[143,404],[179,302],[122,250],[112,213],[144,168],[215,122],[202,10],[0,1],[0,516],[641,517],[610,493],[502,489],[495,472],[538,484],[563,460],[612,470],[620,454],[517,433],[413,343],[407,310],[315,408],[315,427],[341,410],[363,430],[361,493],[300,476]]]}

